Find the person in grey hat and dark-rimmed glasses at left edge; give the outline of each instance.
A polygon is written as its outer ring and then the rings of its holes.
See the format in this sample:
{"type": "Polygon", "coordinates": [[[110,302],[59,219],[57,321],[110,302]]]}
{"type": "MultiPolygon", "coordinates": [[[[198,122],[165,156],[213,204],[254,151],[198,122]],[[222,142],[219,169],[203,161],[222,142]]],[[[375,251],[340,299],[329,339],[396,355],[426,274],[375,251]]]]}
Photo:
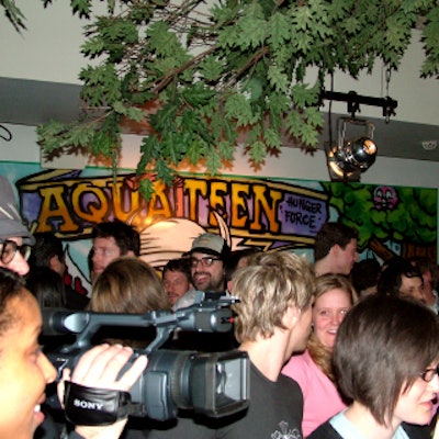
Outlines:
{"type": "Polygon", "coordinates": [[[21,219],[11,183],[0,176],[0,267],[26,274],[34,241],[21,219]]]}

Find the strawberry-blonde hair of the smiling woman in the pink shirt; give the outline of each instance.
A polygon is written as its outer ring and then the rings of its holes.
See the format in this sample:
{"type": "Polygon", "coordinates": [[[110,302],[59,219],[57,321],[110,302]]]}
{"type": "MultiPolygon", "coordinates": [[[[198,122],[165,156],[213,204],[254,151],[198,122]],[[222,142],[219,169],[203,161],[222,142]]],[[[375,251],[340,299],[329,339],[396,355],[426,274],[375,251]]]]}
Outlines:
{"type": "MultiPolygon", "coordinates": [[[[350,297],[351,305],[354,305],[359,300],[356,289],[346,277],[341,274],[327,273],[322,274],[316,279],[314,303],[317,302],[318,297],[322,297],[324,294],[333,290],[345,291],[350,297]]],[[[315,333],[309,337],[307,350],[313,361],[319,369],[322,369],[325,375],[335,382],[336,378],[333,367],[333,350],[323,346],[315,336],[315,333]]]]}

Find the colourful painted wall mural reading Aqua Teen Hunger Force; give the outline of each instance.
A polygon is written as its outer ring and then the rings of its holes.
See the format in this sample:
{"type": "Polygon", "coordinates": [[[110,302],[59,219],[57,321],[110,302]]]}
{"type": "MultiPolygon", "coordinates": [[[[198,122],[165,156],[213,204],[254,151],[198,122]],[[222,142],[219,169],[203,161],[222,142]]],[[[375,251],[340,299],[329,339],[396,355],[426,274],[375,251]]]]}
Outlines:
{"type": "Polygon", "coordinates": [[[158,269],[188,251],[204,230],[222,235],[233,250],[289,250],[312,260],[314,237],[327,221],[359,230],[361,259],[436,260],[436,189],[181,173],[171,188],[156,182],[147,202],[130,171],[114,179],[101,168],[42,170],[0,162],[0,173],[13,182],[30,229],[54,232],[66,243],[69,272],[88,291],[91,230],[113,218],[138,229],[142,258],[158,269]]]}

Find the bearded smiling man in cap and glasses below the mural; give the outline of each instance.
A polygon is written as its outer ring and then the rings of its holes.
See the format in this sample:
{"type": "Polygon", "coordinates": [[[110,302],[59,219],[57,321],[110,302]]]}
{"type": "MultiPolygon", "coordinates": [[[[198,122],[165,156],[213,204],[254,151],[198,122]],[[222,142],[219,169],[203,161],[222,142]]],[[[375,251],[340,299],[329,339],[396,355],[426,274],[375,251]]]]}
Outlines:
{"type": "Polygon", "coordinates": [[[189,261],[194,290],[188,291],[180,297],[175,309],[192,305],[198,291],[225,294],[225,262],[229,254],[230,248],[218,235],[204,233],[193,240],[189,261]]]}

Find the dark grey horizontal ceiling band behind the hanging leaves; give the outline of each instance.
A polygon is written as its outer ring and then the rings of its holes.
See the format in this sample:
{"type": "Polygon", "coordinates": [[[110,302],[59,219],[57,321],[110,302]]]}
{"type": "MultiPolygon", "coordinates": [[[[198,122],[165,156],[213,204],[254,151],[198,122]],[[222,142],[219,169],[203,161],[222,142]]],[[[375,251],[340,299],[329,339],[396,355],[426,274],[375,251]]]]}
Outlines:
{"type": "MultiPolygon", "coordinates": [[[[36,126],[50,119],[60,122],[75,120],[80,112],[81,86],[0,78],[0,123],[36,126]]],[[[333,114],[331,138],[337,136],[337,117],[333,114]]],[[[383,119],[370,119],[375,130],[373,139],[379,156],[439,161],[439,125],[415,124],[383,119]],[[435,149],[426,150],[423,142],[436,142],[435,149]]],[[[329,142],[328,123],[320,135],[320,145],[329,142]]],[[[0,131],[0,135],[3,133],[0,131]]],[[[431,145],[431,144],[430,144],[431,145]]]]}

